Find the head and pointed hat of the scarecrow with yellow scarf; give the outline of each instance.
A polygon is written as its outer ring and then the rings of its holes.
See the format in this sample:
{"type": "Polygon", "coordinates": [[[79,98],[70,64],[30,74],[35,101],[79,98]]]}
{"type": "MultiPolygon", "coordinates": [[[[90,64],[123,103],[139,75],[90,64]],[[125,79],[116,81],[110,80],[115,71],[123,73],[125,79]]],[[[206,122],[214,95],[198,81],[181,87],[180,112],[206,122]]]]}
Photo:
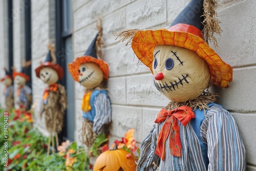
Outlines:
{"type": "Polygon", "coordinates": [[[103,80],[108,80],[109,66],[97,57],[99,55],[97,55],[96,46],[100,44],[100,37],[97,34],[86,53],[68,64],[69,72],[74,80],[87,89],[94,89],[100,86],[103,80]]]}

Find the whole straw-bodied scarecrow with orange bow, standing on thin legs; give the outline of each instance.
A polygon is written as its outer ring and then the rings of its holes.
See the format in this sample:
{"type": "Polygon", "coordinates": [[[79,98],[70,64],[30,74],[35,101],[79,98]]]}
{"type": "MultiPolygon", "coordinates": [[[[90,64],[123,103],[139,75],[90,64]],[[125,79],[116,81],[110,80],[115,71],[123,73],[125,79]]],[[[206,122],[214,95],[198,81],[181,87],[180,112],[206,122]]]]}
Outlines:
{"type": "MultiPolygon", "coordinates": [[[[62,130],[63,115],[67,108],[67,97],[65,88],[57,83],[63,77],[63,70],[56,63],[55,48],[50,43],[49,52],[44,63],[35,69],[36,76],[46,84],[44,95],[42,96],[42,108],[40,115],[45,115],[46,127],[50,133],[48,140],[48,155],[50,153],[50,144],[54,148],[54,136],[58,146],[58,134],[62,130]]],[[[54,151],[53,151],[54,153],[54,151]]]]}

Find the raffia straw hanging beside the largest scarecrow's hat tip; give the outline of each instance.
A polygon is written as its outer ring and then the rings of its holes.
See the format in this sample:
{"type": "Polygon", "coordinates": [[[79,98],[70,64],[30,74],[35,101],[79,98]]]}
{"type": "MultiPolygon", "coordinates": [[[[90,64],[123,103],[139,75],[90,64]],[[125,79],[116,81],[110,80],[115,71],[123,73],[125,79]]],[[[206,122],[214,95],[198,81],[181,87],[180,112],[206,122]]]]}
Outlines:
{"type": "Polygon", "coordinates": [[[214,36],[215,33],[221,34],[222,30],[220,27],[220,20],[217,18],[217,7],[219,6],[219,3],[217,0],[204,0],[203,7],[204,7],[204,20],[203,20],[203,33],[205,42],[209,44],[209,41],[212,42],[216,47],[218,46],[217,39],[214,36]]]}

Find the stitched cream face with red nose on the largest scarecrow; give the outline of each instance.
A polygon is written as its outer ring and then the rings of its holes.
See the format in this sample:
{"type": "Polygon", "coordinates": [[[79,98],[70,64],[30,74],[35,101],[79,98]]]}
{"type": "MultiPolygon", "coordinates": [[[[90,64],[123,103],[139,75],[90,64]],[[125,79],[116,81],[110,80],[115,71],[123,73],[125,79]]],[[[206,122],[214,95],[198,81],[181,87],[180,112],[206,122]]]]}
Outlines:
{"type": "Polygon", "coordinates": [[[200,96],[210,79],[207,64],[198,54],[170,45],[155,47],[153,73],[157,90],[176,102],[200,96]]]}

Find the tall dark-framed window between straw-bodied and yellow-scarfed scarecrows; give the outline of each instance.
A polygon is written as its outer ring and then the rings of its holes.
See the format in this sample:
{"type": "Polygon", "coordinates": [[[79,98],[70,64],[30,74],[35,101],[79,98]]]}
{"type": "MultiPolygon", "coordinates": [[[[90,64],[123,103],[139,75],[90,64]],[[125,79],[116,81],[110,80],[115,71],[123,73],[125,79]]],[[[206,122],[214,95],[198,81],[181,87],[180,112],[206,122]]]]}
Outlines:
{"type": "Polygon", "coordinates": [[[74,108],[74,80],[67,72],[67,64],[73,60],[72,46],[72,3],[71,0],[55,0],[55,34],[56,34],[56,58],[57,62],[65,71],[65,77],[60,83],[66,87],[68,108],[65,115],[64,126],[59,138],[74,140],[75,131],[75,108],[74,108]]]}

